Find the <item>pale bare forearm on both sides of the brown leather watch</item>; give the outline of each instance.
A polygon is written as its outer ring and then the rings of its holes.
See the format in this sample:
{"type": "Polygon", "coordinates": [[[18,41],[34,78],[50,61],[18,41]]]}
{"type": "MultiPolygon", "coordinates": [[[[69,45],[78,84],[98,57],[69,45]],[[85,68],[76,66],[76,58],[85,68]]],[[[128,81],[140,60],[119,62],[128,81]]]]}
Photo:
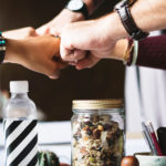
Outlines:
{"type": "MultiPolygon", "coordinates": [[[[137,0],[131,12],[137,27],[145,32],[166,28],[166,0],[137,0]]],[[[103,23],[106,24],[105,32],[112,39],[128,37],[116,12],[107,14],[103,23]]]]}

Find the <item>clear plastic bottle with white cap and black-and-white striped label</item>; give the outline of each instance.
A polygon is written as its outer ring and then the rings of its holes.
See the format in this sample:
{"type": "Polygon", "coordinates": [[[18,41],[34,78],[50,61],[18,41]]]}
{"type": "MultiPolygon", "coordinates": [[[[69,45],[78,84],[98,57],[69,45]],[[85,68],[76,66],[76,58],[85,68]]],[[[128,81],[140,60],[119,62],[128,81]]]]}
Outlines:
{"type": "Polygon", "coordinates": [[[11,81],[10,92],[3,107],[6,166],[37,166],[37,108],[28,96],[28,81],[11,81]]]}

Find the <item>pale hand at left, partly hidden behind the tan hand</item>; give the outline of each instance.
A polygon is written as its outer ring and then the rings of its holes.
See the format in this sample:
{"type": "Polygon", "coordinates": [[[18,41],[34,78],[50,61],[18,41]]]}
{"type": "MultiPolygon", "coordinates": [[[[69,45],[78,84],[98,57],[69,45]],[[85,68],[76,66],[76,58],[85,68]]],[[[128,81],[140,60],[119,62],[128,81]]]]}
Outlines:
{"type": "Polygon", "coordinates": [[[37,35],[38,34],[35,30],[31,27],[3,32],[4,38],[15,39],[15,40],[24,39],[28,37],[37,37],[37,35]]]}

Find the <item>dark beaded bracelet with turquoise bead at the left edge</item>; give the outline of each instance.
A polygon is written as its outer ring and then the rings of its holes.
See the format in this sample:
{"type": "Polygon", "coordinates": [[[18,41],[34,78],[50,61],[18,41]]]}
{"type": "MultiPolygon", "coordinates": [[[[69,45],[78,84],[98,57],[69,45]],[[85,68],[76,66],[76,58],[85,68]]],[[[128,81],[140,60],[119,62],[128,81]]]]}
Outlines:
{"type": "Polygon", "coordinates": [[[2,32],[0,32],[0,63],[3,62],[6,55],[6,40],[2,37],[2,32]]]}

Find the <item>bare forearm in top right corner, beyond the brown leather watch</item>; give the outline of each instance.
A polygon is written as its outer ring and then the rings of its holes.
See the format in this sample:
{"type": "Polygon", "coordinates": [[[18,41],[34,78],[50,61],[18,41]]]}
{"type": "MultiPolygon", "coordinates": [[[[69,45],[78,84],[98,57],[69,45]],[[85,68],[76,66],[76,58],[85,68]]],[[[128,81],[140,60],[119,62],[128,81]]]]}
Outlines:
{"type": "Polygon", "coordinates": [[[166,0],[138,0],[131,12],[145,32],[166,28],[166,0]]]}

